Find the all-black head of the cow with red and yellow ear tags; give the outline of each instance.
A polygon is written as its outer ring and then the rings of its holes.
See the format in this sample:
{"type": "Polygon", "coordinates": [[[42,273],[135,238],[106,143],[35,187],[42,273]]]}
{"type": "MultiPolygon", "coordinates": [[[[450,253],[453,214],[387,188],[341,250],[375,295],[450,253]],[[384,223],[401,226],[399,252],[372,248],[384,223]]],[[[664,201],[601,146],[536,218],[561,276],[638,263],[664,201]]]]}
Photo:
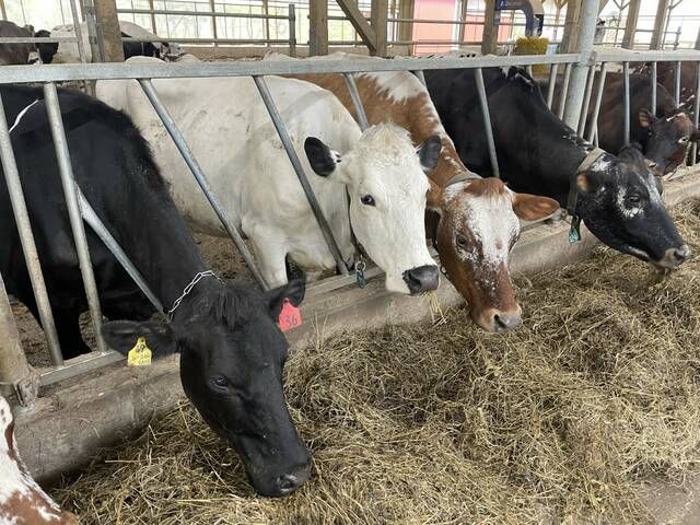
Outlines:
{"type": "Polygon", "coordinates": [[[255,490],[285,495],[308,478],[311,457],[287,409],[288,343],[278,318],[285,298],[299,305],[303,296],[303,281],[260,292],[206,279],[172,324],[110,322],[102,331],[124,354],[139,337],[154,358],[178,352],[187,397],[241,455],[255,490]]]}

